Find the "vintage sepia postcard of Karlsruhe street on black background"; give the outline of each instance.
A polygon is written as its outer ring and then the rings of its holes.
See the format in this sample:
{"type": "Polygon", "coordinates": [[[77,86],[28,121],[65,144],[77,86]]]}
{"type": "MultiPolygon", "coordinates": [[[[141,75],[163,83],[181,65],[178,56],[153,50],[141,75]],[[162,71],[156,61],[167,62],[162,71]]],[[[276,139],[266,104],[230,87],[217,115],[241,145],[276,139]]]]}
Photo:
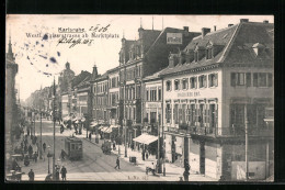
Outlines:
{"type": "Polygon", "coordinates": [[[5,180],[274,181],[274,16],[8,14],[5,180]]]}

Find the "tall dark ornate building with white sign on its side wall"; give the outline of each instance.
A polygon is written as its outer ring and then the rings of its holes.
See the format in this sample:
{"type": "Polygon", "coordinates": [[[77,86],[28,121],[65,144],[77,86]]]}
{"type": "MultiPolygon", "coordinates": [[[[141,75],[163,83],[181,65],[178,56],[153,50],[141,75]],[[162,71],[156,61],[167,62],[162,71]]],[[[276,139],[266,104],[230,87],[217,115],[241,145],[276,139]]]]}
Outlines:
{"type": "MultiPolygon", "coordinates": [[[[139,38],[122,38],[119,51],[119,98],[124,125],[137,127],[142,123],[142,78],[167,67],[169,52],[184,48],[198,33],[166,27],[163,31],[138,29],[139,38]]],[[[127,130],[128,131],[128,130],[127,130]]],[[[126,132],[127,134],[129,132],[126,132]]],[[[132,137],[127,137],[128,139],[132,137]]]]}

